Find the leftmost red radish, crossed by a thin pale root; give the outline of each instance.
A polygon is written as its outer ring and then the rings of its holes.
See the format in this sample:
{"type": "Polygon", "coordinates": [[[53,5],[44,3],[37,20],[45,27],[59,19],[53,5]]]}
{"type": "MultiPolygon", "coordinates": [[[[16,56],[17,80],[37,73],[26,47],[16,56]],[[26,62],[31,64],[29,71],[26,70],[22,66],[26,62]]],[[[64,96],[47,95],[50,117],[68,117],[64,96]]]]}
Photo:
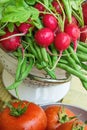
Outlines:
{"type": "MultiPolygon", "coordinates": [[[[6,31],[6,34],[1,36],[0,38],[4,39],[14,34],[17,34],[17,32],[6,31]]],[[[4,50],[10,52],[15,51],[20,46],[20,42],[21,42],[20,36],[13,36],[11,38],[0,41],[0,45],[4,50]]]]}

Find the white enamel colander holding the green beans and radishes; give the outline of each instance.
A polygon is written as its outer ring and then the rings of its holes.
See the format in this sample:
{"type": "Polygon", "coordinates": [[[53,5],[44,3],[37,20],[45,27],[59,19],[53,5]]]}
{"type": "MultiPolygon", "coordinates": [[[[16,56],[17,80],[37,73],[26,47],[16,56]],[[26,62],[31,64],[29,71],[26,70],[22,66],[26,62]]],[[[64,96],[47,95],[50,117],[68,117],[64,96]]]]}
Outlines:
{"type": "MultiPolygon", "coordinates": [[[[0,62],[4,67],[2,73],[3,83],[5,87],[8,87],[15,79],[17,59],[0,49],[0,62]]],[[[69,91],[71,75],[61,69],[58,69],[57,75],[61,77],[61,80],[45,78],[43,71],[33,68],[30,76],[18,87],[20,99],[37,104],[60,101],[69,91]]],[[[9,90],[9,92],[17,98],[15,90],[9,90]]]]}

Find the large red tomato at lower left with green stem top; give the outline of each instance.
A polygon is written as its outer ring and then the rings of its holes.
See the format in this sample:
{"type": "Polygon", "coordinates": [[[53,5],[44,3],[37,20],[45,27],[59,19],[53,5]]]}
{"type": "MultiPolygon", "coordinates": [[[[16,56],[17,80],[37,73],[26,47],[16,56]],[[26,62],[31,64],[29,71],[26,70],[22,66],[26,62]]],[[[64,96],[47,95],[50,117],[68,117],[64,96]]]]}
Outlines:
{"type": "MultiPolygon", "coordinates": [[[[20,102],[12,104],[18,108],[20,102]]],[[[47,118],[44,110],[34,104],[22,101],[21,108],[27,105],[27,109],[20,116],[10,115],[10,108],[6,107],[0,115],[0,130],[45,130],[47,118]]],[[[16,111],[18,112],[18,111],[16,111]]]]}

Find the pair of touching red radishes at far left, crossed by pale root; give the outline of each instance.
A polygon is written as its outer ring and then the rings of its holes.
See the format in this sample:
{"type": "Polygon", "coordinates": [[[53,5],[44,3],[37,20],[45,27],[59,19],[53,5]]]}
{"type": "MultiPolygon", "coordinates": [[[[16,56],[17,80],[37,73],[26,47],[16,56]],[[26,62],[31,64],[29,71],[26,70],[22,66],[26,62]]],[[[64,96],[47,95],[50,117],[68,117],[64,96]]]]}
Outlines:
{"type": "Polygon", "coordinates": [[[24,36],[32,25],[30,23],[21,23],[20,26],[15,26],[13,32],[5,29],[5,35],[0,38],[0,45],[5,51],[15,51],[21,46],[21,36],[24,36]]]}

